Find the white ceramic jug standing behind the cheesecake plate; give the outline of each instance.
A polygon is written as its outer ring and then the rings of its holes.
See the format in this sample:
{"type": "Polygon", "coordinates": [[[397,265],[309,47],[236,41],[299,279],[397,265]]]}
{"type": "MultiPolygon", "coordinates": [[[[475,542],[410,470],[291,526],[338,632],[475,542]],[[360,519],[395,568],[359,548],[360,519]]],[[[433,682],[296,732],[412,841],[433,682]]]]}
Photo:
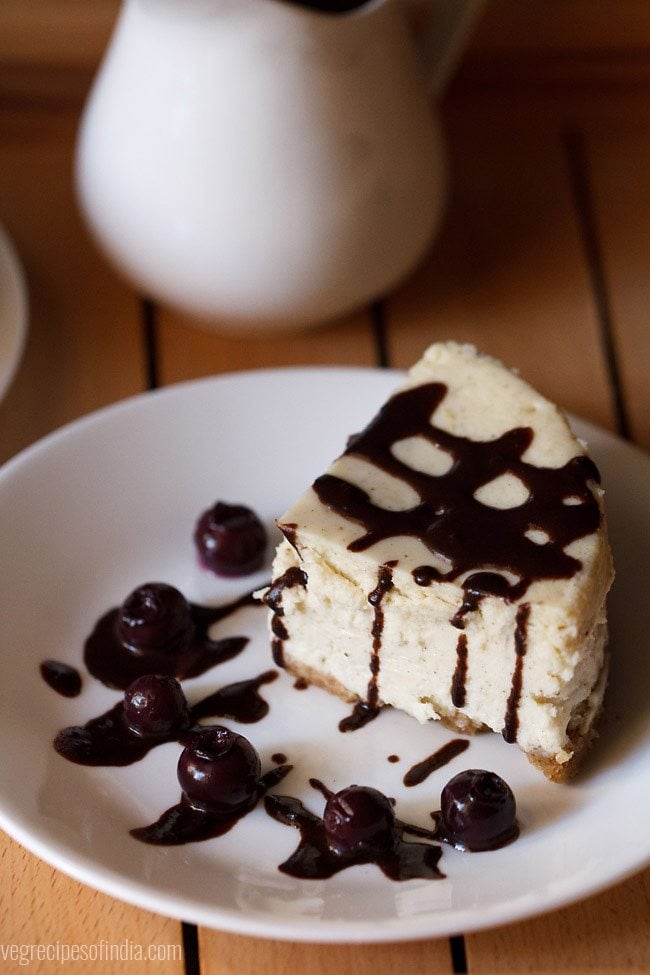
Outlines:
{"type": "Polygon", "coordinates": [[[417,263],[445,193],[430,90],[475,4],[430,0],[423,53],[406,2],[125,0],[76,177],[141,292],[216,326],[302,326],[417,263]]]}

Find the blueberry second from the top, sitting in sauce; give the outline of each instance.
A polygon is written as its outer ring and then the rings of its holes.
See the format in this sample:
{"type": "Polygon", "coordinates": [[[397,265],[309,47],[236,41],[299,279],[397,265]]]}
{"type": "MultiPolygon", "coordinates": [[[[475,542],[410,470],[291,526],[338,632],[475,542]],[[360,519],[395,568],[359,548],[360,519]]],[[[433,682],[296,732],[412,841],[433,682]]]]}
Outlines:
{"type": "Polygon", "coordinates": [[[192,636],[190,605],[173,586],[149,582],[126,597],[117,629],[122,643],[136,652],[171,652],[192,636]]]}

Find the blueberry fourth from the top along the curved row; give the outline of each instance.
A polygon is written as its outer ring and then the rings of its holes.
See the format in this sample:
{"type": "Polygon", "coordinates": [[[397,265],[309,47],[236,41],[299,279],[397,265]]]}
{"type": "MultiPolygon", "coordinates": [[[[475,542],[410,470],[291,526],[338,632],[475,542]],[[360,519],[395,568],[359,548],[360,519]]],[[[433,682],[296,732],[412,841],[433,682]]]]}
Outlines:
{"type": "Polygon", "coordinates": [[[189,802],[207,812],[248,805],[260,781],[260,758],[248,739],[216,725],[202,731],[178,760],[178,781],[189,802]]]}

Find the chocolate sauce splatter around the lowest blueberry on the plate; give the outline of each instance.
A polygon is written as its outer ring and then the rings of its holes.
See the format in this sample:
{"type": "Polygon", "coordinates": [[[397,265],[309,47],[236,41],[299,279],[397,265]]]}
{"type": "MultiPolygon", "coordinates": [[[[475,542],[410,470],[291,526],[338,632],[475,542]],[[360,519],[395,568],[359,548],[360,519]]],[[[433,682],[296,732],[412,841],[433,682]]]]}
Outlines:
{"type": "MultiPolygon", "coordinates": [[[[332,795],[331,790],[318,779],[310,779],[309,783],[326,799],[332,795]]],[[[361,863],[377,864],[391,880],[411,880],[416,877],[440,880],[444,877],[438,869],[438,861],[442,855],[439,846],[404,840],[405,833],[435,840],[433,830],[395,819],[390,842],[385,850],[367,854],[341,854],[329,846],[325,825],[320,816],[306,809],[299,799],[282,795],[267,796],[264,808],[273,819],[300,830],[297,849],[278,867],[282,873],[292,877],[324,880],[361,863]]]]}

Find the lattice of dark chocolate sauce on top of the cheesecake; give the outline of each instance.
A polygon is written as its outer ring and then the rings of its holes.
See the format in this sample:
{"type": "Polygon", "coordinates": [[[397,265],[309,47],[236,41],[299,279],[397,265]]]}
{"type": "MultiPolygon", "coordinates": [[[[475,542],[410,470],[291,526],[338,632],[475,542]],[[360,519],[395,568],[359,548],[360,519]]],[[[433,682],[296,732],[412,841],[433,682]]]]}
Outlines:
{"type": "Polygon", "coordinates": [[[331,474],[314,483],[321,502],[356,522],[363,534],[348,548],[361,552],[376,542],[414,536],[430,552],[451,564],[447,572],[420,566],[414,578],[420,585],[457,579],[477,566],[509,571],[519,581],[508,587],[514,600],[536,579],[568,579],[580,562],[563,550],[594,532],[600,511],[589,487],[598,470],[588,457],[577,456],[564,467],[535,467],[522,455],[533,440],[530,427],[509,430],[496,440],[476,441],[432,426],[434,411],[445,398],[443,383],[428,383],[393,396],[366,429],[354,437],[345,454],[359,457],[408,484],[420,502],[404,511],[388,511],[374,504],[361,488],[331,474]],[[449,453],[453,464],[446,474],[432,476],[408,467],[391,448],[407,437],[421,437],[449,453]],[[474,494],[483,485],[510,473],[528,488],[529,496],[516,508],[482,504],[474,494]],[[566,504],[566,499],[579,501],[566,504]],[[531,529],[548,535],[545,545],[526,536],[531,529]]]}

